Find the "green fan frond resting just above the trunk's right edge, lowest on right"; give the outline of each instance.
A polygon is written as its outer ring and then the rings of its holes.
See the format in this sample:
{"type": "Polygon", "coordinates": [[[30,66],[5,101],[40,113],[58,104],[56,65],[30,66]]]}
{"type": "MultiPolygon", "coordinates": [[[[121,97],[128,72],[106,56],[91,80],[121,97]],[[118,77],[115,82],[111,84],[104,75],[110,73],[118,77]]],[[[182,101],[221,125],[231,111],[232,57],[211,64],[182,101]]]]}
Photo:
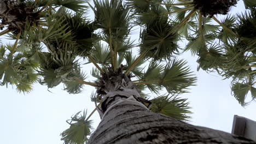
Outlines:
{"type": "Polygon", "coordinates": [[[150,111],[155,113],[161,113],[163,115],[177,118],[179,120],[188,121],[190,116],[188,114],[192,113],[189,111],[187,99],[177,98],[174,95],[171,97],[169,95],[161,95],[152,100],[152,106],[150,111]]]}

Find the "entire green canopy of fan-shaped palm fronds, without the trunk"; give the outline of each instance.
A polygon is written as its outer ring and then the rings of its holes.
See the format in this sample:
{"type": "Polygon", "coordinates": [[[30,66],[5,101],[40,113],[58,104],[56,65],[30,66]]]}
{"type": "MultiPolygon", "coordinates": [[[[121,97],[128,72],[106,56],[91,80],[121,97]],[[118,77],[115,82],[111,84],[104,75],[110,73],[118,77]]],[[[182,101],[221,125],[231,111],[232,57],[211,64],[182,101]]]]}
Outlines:
{"type": "MultiPolygon", "coordinates": [[[[249,92],[256,99],[256,3],[243,2],[247,10],[230,15],[235,0],[0,1],[0,35],[14,40],[0,46],[1,85],[28,93],[36,82],[48,88],[63,83],[71,94],[89,85],[98,89],[92,101],[101,104],[104,77],[121,70],[142,90],[145,105],[152,102],[150,110],[188,120],[187,99],[178,95],[189,92],[196,77],[177,56],[190,51],[198,57],[197,70],[232,78],[232,94],[245,106],[249,92]],[[225,18],[218,20],[217,14],[225,18]],[[135,27],[141,29],[139,43],[130,38],[135,27]],[[184,40],[188,44],[179,46],[184,40]],[[81,69],[88,63],[95,66],[92,82],[81,69]],[[150,99],[144,89],[168,94],[150,99]]],[[[83,143],[90,134],[90,116],[79,114],[62,133],[67,143],[83,143]]]]}

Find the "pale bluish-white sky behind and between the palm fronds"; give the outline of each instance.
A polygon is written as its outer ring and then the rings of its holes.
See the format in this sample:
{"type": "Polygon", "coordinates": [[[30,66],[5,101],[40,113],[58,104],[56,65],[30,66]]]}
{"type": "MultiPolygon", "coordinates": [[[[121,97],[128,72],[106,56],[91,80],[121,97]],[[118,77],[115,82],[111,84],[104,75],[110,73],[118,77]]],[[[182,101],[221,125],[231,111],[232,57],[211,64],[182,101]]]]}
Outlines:
{"type": "MultiPolygon", "coordinates": [[[[231,12],[240,13],[244,9],[243,2],[239,1],[237,7],[232,7],[231,12]]],[[[139,31],[133,33],[135,35],[132,39],[138,39],[136,34],[139,31]]],[[[181,95],[182,98],[188,98],[189,106],[192,107],[190,124],[230,133],[234,115],[256,121],[256,102],[253,101],[246,107],[238,104],[231,95],[231,80],[223,80],[216,73],[196,71],[197,58],[192,57],[190,52],[183,53],[179,58],[187,60],[197,76],[197,86],[190,87],[190,93],[181,95]]],[[[90,74],[91,67],[92,64],[84,65],[83,70],[90,74]]],[[[94,87],[85,86],[80,94],[68,94],[63,91],[63,85],[49,91],[46,86],[38,83],[28,94],[16,92],[15,87],[0,87],[1,143],[61,144],[63,141],[60,140],[60,134],[69,127],[66,120],[78,111],[87,109],[90,113],[95,108],[90,100],[91,92],[96,91],[94,87]]],[[[98,113],[94,113],[91,119],[94,120],[93,126],[96,128],[100,122],[98,113]]]]}

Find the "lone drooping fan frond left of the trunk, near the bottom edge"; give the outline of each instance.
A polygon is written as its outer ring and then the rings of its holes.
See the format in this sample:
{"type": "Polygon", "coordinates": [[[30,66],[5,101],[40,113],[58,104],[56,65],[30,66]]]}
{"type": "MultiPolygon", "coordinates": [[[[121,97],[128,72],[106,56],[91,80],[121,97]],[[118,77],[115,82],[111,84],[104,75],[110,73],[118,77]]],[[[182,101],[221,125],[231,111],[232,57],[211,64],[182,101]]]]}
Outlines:
{"type": "Polygon", "coordinates": [[[92,121],[86,119],[86,113],[85,111],[83,114],[78,112],[71,117],[70,122],[67,121],[70,127],[61,133],[61,140],[65,141],[65,144],[83,144],[88,140],[87,136],[92,130],[92,121]]]}

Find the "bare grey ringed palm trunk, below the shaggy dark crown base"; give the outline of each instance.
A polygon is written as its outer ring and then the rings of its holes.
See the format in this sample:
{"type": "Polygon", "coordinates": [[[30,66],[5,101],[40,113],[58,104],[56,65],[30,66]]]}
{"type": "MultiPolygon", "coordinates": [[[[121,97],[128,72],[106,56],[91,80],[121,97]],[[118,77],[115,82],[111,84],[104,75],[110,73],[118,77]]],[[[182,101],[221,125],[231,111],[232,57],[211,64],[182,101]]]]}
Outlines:
{"type": "MultiPolygon", "coordinates": [[[[127,95],[129,89],[124,91],[127,95]],[[127,90],[127,91],[126,91],[127,90]]],[[[130,89],[131,90],[131,89],[130,89]]],[[[123,91],[123,92],[124,92],[123,91]]],[[[114,100],[104,112],[101,123],[91,135],[90,143],[256,143],[224,131],[197,127],[177,119],[150,112],[136,97],[112,92],[114,100]]],[[[130,93],[130,95],[134,95],[130,93]]]]}

